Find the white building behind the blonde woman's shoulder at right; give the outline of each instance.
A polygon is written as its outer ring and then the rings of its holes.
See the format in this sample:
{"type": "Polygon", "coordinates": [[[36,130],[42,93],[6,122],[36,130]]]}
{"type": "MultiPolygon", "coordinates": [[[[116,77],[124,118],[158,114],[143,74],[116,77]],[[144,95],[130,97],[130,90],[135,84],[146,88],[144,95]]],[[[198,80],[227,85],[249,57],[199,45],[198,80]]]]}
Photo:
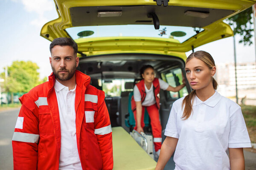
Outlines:
{"type": "MultiPolygon", "coordinates": [[[[226,96],[236,96],[236,78],[234,63],[216,64],[218,91],[226,96]]],[[[239,98],[256,99],[256,65],[255,62],[237,63],[237,88],[239,98]]]]}

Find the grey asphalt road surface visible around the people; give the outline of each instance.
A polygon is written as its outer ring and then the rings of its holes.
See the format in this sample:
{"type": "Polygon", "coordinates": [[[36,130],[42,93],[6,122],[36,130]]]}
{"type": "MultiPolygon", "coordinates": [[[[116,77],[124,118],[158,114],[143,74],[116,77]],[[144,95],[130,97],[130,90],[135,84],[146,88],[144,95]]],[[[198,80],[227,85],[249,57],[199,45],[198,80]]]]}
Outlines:
{"type": "MultiPolygon", "coordinates": [[[[0,112],[0,170],[13,170],[12,135],[19,109],[0,112]]],[[[256,153],[244,150],[245,170],[256,170],[256,153]]],[[[170,160],[165,170],[173,170],[170,160]]]]}

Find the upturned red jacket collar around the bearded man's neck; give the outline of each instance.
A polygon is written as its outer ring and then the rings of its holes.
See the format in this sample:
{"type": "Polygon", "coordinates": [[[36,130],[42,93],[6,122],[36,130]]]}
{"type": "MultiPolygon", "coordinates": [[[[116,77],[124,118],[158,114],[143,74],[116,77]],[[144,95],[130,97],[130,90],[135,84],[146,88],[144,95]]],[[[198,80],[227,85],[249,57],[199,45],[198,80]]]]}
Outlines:
{"type": "MultiPolygon", "coordinates": [[[[83,74],[81,71],[76,70],[76,85],[79,86],[80,88],[84,85],[87,87],[90,85],[90,77],[87,76],[86,74],[83,74]]],[[[55,76],[52,73],[49,77],[49,85],[51,88],[53,88],[55,84],[55,76]]],[[[61,89],[60,89],[61,90],[61,89]]]]}

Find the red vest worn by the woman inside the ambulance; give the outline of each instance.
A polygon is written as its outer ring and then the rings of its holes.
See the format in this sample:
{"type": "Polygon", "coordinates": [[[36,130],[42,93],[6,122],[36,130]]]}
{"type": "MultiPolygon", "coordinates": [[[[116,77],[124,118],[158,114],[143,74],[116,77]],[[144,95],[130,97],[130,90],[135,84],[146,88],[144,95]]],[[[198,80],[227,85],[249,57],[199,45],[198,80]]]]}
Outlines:
{"type": "MultiPolygon", "coordinates": [[[[145,100],[146,97],[146,92],[145,92],[145,85],[144,85],[144,79],[141,80],[140,82],[138,82],[137,87],[140,91],[140,95],[141,95],[141,103],[145,100]]],[[[159,80],[158,78],[154,78],[153,80],[153,90],[154,90],[154,98],[156,100],[157,103],[157,108],[160,108],[160,98],[159,98],[159,92],[160,92],[160,85],[159,85],[159,80]]],[[[134,96],[131,97],[131,109],[132,111],[136,110],[136,103],[134,100],[134,96]]]]}

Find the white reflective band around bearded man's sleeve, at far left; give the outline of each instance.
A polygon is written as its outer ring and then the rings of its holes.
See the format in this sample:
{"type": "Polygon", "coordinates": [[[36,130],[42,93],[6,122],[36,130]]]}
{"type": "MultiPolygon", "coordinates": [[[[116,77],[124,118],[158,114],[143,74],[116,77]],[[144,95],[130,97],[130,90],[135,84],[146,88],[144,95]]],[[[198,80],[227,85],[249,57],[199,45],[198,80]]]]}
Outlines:
{"type": "Polygon", "coordinates": [[[38,143],[39,135],[32,133],[14,132],[12,140],[19,142],[38,143]]]}

